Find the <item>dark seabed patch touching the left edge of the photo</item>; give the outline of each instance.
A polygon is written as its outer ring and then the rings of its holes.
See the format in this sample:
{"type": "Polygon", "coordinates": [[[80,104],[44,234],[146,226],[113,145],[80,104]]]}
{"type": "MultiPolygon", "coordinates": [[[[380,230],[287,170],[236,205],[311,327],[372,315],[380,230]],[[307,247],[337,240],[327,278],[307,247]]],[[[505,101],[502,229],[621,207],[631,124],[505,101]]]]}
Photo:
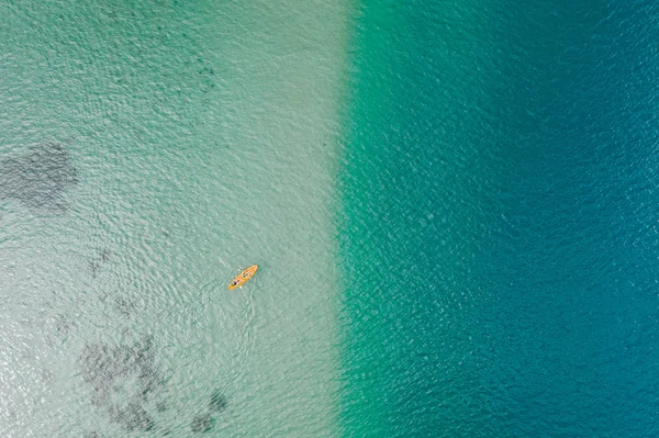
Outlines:
{"type": "Polygon", "coordinates": [[[33,209],[64,213],[64,193],[77,182],[63,143],[42,143],[23,156],[0,160],[0,200],[15,199],[33,209]]]}

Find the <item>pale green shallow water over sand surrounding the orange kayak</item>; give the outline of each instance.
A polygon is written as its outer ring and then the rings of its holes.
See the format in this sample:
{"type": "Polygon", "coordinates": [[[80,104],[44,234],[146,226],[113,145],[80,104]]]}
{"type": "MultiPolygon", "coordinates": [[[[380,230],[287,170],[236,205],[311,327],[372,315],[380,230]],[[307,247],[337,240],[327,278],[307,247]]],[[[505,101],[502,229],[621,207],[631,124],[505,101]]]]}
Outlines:
{"type": "Polygon", "coordinates": [[[0,435],[338,434],[346,11],[243,3],[0,7],[0,435]]]}

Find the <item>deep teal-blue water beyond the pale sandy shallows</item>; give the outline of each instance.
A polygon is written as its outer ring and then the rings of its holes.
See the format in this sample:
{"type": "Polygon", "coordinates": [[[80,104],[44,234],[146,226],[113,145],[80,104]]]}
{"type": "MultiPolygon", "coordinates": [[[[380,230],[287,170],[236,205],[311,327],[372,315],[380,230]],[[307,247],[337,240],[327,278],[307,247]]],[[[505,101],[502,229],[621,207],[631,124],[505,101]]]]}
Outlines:
{"type": "Polygon", "coordinates": [[[657,436],[659,5],[355,23],[346,436],[657,436]]]}

